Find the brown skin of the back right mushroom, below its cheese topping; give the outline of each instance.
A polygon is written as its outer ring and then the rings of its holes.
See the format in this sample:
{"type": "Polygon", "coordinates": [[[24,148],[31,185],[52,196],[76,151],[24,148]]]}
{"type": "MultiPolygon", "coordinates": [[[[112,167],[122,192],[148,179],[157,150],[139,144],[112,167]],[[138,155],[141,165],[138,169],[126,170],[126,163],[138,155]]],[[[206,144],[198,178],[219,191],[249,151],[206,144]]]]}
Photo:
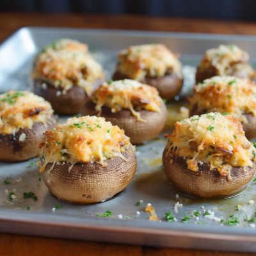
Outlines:
{"type": "MultiPolygon", "coordinates": [[[[202,70],[200,67],[197,68],[196,70],[196,83],[203,83],[205,79],[209,79],[213,76],[219,76],[218,75],[218,70],[213,67],[212,65],[209,66],[209,68],[202,70]]],[[[234,71],[229,76],[235,76],[238,78],[248,78],[253,80],[254,77],[251,77],[246,70],[239,70],[239,71],[234,71]]]]}

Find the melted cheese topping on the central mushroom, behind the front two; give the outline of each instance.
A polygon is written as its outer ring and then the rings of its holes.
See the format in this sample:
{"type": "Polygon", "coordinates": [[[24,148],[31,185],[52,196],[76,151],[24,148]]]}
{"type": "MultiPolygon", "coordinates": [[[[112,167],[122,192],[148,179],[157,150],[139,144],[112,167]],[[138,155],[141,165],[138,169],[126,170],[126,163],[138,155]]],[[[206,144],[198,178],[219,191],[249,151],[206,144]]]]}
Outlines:
{"type": "Polygon", "coordinates": [[[93,93],[93,102],[96,104],[96,111],[101,111],[102,106],[111,108],[112,113],[122,109],[130,109],[132,115],[138,121],[145,122],[140,118],[140,113],[136,110],[147,109],[160,113],[160,106],[163,103],[156,88],[138,81],[124,79],[111,83],[103,83],[97,91],[93,93]]]}

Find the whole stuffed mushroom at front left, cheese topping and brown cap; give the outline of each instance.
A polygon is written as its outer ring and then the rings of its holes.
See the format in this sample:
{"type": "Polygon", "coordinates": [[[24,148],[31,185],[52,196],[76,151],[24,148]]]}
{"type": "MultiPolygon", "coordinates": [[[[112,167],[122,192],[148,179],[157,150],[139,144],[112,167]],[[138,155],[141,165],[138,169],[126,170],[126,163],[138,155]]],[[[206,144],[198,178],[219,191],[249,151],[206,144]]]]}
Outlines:
{"type": "Polygon", "coordinates": [[[45,135],[38,166],[46,186],[60,200],[102,202],[122,191],[136,172],[129,138],[104,118],[70,118],[45,135]]]}

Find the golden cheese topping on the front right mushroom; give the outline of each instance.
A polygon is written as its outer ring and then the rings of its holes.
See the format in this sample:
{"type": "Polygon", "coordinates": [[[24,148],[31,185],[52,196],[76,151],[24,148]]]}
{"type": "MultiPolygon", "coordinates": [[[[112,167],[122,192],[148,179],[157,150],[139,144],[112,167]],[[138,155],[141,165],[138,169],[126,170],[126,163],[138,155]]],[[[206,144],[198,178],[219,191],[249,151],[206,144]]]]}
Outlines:
{"type": "Polygon", "coordinates": [[[189,170],[196,172],[198,163],[206,163],[210,170],[217,168],[229,180],[232,167],[252,167],[251,160],[256,157],[241,123],[226,114],[208,113],[177,122],[168,138],[167,154],[173,152],[184,157],[189,170]]]}

